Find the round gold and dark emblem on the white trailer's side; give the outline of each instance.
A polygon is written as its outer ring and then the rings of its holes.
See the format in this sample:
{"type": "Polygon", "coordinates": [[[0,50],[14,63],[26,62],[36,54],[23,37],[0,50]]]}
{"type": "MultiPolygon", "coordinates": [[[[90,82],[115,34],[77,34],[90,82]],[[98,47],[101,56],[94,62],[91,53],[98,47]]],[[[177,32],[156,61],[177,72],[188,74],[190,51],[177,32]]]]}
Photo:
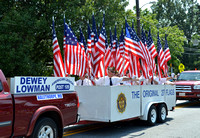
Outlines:
{"type": "Polygon", "coordinates": [[[126,109],[126,97],[123,93],[120,93],[117,98],[117,109],[120,113],[123,113],[126,109]]]}

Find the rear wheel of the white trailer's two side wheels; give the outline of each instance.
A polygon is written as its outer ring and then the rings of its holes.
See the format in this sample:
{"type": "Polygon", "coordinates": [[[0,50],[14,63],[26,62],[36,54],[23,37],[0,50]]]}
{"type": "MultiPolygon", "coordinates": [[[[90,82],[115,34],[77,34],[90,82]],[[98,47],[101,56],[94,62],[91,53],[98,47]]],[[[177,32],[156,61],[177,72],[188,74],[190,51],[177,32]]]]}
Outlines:
{"type": "Polygon", "coordinates": [[[164,123],[167,118],[167,108],[164,104],[158,106],[158,122],[164,123]]]}

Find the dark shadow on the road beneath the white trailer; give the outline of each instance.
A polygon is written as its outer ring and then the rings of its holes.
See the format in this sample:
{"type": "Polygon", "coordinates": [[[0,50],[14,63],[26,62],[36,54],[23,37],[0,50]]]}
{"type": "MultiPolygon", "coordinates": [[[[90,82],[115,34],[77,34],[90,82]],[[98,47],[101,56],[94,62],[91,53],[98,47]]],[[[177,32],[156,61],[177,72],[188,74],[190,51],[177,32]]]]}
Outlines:
{"type": "MultiPolygon", "coordinates": [[[[145,134],[145,130],[151,127],[157,127],[159,125],[169,125],[168,122],[172,121],[173,118],[167,118],[165,123],[157,123],[155,126],[148,126],[146,121],[142,121],[139,119],[129,120],[129,121],[119,121],[113,123],[94,123],[90,125],[77,125],[73,126],[72,128],[66,128],[64,131],[71,131],[71,130],[81,130],[85,129],[85,135],[81,132],[81,134],[72,135],[73,138],[80,137],[123,137],[129,135],[130,137],[138,137],[145,134]],[[95,128],[97,127],[97,128],[95,128]],[[90,130],[90,128],[95,128],[90,130]],[[133,134],[132,133],[136,133],[133,134]],[[130,135],[131,134],[131,135],[130,135]]],[[[77,131],[76,131],[77,132],[77,131]]],[[[65,135],[64,135],[65,136],[65,135]]],[[[70,136],[69,136],[70,137],[70,136]]]]}

